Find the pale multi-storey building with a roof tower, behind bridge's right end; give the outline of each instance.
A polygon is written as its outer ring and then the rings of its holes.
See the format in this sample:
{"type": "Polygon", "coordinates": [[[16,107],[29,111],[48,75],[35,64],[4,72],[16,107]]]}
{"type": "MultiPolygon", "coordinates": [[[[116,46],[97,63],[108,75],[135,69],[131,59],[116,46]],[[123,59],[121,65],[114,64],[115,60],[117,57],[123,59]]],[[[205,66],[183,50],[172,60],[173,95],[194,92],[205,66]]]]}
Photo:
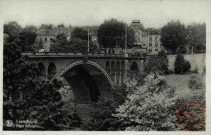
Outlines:
{"type": "Polygon", "coordinates": [[[150,55],[157,54],[161,50],[161,36],[159,32],[145,29],[140,20],[133,20],[130,27],[135,32],[135,43],[132,48],[136,48],[150,55]]]}

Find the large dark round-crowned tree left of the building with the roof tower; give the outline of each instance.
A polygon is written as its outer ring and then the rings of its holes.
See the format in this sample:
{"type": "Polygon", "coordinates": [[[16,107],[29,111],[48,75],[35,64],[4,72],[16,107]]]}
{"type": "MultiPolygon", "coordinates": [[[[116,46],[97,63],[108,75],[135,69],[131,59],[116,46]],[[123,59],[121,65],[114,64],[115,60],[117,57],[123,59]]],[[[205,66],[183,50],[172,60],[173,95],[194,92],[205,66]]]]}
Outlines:
{"type": "Polygon", "coordinates": [[[127,28],[127,41],[129,45],[132,45],[135,41],[134,31],[125,23],[120,22],[116,19],[105,20],[98,29],[98,41],[100,46],[104,48],[114,48],[116,43],[120,47],[124,47],[125,43],[125,32],[127,28]]]}

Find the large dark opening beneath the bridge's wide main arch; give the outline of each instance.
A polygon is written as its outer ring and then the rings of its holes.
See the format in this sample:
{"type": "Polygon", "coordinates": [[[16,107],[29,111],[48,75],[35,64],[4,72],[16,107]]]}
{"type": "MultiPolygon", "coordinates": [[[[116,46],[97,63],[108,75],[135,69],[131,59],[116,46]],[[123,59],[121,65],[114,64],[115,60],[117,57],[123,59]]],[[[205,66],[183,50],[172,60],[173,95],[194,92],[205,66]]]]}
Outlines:
{"type": "Polygon", "coordinates": [[[75,62],[60,73],[73,88],[76,101],[79,104],[90,104],[99,96],[110,97],[113,83],[105,70],[100,69],[94,62],[75,62]]]}

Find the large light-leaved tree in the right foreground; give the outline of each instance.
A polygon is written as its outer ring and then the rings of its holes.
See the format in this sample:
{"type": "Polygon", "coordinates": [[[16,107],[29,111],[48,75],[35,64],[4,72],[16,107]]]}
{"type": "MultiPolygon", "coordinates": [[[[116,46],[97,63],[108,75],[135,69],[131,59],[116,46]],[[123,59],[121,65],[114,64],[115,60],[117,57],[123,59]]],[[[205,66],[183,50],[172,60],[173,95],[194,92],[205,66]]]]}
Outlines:
{"type": "Polygon", "coordinates": [[[126,84],[127,99],[113,116],[123,120],[126,130],[176,130],[174,109],[178,97],[174,89],[166,87],[164,77],[155,73],[144,80],[143,85],[134,80],[126,84]]]}

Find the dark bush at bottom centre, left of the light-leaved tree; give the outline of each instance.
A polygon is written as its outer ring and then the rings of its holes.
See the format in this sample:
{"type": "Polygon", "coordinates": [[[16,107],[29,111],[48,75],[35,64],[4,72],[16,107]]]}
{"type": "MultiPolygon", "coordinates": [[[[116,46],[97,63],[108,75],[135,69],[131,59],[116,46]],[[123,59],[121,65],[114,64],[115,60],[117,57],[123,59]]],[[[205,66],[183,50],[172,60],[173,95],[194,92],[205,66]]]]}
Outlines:
{"type": "Polygon", "coordinates": [[[90,118],[82,123],[82,130],[114,131],[122,129],[121,120],[112,116],[112,114],[124,102],[127,95],[125,88],[113,89],[112,95],[114,97],[112,99],[100,97],[98,102],[92,103],[89,113],[90,118]]]}

